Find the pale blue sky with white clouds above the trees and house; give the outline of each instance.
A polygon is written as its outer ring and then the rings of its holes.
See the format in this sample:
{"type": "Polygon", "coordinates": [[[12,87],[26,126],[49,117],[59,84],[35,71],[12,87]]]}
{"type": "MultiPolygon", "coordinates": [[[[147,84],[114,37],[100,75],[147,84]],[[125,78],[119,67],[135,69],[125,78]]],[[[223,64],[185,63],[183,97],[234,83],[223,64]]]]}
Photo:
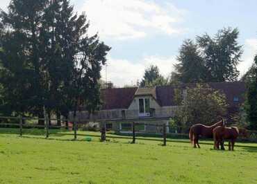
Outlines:
{"type": "MultiPolygon", "coordinates": [[[[10,0],[1,0],[6,10],[10,0]]],[[[142,79],[151,64],[165,77],[174,71],[185,39],[213,36],[224,27],[238,28],[243,46],[240,75],[247,72],[257,53],[256,0],[71,0],[78,14],[90,21],[89,34],[112,49],[103,67],[103,80],[117,87],[142,79]],[[107,69],[107,70],[106,70],[107,69]]]]}

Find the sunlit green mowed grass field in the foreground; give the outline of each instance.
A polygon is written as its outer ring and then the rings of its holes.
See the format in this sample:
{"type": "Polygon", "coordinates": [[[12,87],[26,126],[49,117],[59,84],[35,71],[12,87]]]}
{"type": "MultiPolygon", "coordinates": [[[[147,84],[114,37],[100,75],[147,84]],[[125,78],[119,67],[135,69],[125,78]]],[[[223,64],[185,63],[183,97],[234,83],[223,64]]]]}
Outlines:
{"type": "MultiPolygon", "coordinates": [[[[13,132],[13,131],[10,131],[13,132]]],[[[33,132],[33,131],[32,131],[33,132]]],[[[38,131],[34,131],[37,133],[38,131]]],[[[235,151],[193,149],[188,140],[155,140],[99,133],[19,137],[0,129],[0,183],[257,183],[257,145],[236,143],[235,151]]]]}

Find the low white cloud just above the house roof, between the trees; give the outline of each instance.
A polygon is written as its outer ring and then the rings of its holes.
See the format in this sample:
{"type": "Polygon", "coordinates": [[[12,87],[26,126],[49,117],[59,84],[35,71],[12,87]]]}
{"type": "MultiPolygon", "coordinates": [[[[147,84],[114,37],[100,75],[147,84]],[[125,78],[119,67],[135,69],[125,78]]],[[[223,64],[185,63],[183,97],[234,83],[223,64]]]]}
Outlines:
{"type": "MultiPolygon", "coordinates": [[[[108,57],[107,66],[107,80],[115,84],[115,86],[122,87],[125,84],[136,84],[144,75],[144,69],[151,64],[157,65],[160,73],[165,77],[173,71],[173,64],[176,62],[175,57],[159,57],[146,56],[140,62],[130,62],[126,59],[113,59],[108,57]]],[[[106,80],[105,67],[101,71],[103,80],[106,80]]]]}

